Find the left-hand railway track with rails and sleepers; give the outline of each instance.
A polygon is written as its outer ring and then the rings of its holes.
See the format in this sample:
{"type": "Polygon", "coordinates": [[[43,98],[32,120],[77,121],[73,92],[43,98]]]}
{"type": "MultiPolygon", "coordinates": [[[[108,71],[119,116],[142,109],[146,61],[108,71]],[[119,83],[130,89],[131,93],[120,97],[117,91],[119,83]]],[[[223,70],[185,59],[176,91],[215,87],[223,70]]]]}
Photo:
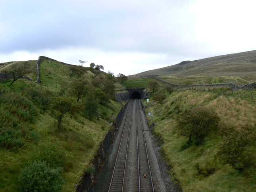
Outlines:
{"type": "MultiPolygon", "coordinates": [[[[125,119],[125,125],[127,123],[130,108],[131,108],[131,103],[129,104],[127,116],[126,116],[126,119],[125,119]]],[[[122,133],[119,149],[118,149],[118,152],[117,152],[117,157],[116,157],[116,160],[115,160],[115,167],[114,167],[114,171],[113,171],[113,174],[112,174],[110,187],[108,189],[109,192],[110,191],[123,191],[123,183],[124,183],[123,181],[124,181],[124,178],[125,178],[127,150],[128,150],[129,135],[130,135],[130,128],[131,128],[131,117],[130,117],[129,130],[125,129],[125,125],[123,127],[123,133],[122,133]],[[128,134],[128,136],[127,136],[127,134],[128,134]]]]}

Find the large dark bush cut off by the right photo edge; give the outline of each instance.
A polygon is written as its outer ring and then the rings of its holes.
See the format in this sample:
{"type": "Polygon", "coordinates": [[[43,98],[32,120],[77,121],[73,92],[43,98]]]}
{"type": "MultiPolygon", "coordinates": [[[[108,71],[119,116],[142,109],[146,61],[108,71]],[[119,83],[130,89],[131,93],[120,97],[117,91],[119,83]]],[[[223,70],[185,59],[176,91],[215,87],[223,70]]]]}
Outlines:
{"type": "Polygon", "coordinates": [[[246,125],[241,129],[225,127],[220,131],[223,142],[217,156],[223,163],[231,164],[234,169],[245,169],[255,163],[255,128],[246,125]]]}

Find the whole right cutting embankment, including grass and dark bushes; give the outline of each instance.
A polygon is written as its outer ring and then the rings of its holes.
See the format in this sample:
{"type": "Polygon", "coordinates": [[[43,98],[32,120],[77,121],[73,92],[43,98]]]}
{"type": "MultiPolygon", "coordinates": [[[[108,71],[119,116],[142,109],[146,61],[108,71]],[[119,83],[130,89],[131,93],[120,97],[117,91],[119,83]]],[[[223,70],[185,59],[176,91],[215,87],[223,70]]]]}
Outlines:
{"type": "Polygon", "coordinates": [[[208,91],[163,88],[150,98],[163,158],[183,191],[253,191],[256,92],[208,91]]]}

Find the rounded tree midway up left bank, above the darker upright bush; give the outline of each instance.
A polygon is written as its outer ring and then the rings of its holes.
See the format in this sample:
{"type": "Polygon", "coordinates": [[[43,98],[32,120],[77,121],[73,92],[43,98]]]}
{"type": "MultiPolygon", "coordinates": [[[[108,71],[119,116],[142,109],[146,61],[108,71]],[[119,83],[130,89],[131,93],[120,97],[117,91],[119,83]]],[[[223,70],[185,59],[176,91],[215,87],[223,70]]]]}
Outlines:
{"type": "Polygon", "coordinates": [[[89,91],[89,83],[85,79],[74,80],[71,83],[71,94],[77,98],[77,102],[79,99],[86,96],[89,91]]]}

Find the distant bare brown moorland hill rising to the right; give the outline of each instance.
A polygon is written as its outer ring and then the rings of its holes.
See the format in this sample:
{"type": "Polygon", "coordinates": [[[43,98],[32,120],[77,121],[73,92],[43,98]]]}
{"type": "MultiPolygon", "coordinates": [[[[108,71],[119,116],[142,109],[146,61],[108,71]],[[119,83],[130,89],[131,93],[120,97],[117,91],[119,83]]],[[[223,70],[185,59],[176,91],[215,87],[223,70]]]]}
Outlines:
{"type": "Polygon", "coordinates": [[[174,76],[177,78],[198,77],[198,76],[235,76],[246,81],[256,81],[256,50],[216,56],[194,61],[182,61],[181,63],[144,71],[133,77],[150,76],[174,76]]]}

